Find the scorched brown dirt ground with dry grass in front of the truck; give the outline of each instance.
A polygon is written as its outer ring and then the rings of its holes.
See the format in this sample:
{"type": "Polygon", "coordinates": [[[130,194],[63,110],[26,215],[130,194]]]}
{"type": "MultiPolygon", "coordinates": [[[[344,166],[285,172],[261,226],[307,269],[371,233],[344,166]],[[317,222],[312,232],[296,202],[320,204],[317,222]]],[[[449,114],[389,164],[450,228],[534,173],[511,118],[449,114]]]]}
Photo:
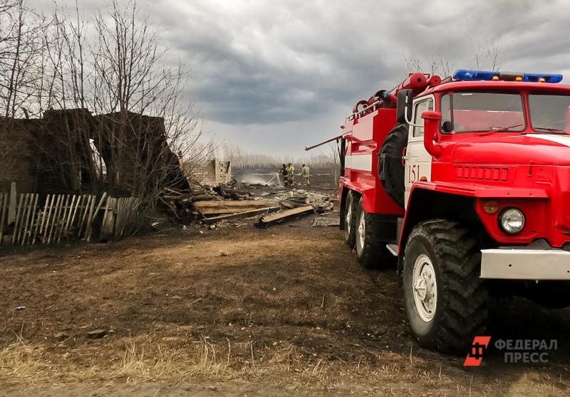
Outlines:
{"type": "Polygon", "coordinates": [[[313,218],[3,251],[0,394],[570,393],[568,312],[497,302],[493,337],[559,349],[541,366],[490,354],[464,369],[412,341],[395,272],[360,268],[313,218]]]}

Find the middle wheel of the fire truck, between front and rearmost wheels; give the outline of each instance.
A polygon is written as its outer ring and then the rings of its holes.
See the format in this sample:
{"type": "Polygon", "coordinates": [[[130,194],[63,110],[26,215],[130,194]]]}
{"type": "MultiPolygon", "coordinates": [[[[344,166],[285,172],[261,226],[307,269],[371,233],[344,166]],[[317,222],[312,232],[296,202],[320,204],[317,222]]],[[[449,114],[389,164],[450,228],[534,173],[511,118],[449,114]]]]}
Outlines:
{"type": "Polygon", "coordinates": [[[383,223],[374,219],[373,213],[367,213],[362,206],[362,198],[356,206],[355,221],[355,245],[358,263],[363,268],[380,269],[387,268],[395,262],[392,255],[385,247],[385,240],[380,238],[383,223]]]}

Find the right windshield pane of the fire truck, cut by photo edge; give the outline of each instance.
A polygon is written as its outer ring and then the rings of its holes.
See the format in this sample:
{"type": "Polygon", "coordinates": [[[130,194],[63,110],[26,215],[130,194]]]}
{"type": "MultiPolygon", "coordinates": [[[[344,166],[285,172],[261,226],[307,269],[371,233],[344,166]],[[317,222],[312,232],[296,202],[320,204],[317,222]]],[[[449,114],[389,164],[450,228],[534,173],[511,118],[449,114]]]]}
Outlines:
{"type": "Polygon", "coordinates": [[[543,131],[570,131],[570,95],[531,93],[529,111],[532,128],[543,131]]]}

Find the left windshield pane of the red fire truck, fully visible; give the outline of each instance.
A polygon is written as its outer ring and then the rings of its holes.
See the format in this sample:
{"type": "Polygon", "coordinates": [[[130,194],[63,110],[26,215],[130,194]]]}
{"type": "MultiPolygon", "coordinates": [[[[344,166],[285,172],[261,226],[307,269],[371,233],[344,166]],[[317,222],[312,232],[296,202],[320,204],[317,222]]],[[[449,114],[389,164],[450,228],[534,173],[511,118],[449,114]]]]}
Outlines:
{"type": "Polygon", "coordinates": [[[447,131],[522,131],[522,95],[518,92],[454,92],[441,97],[442,125],[447,131]]]}

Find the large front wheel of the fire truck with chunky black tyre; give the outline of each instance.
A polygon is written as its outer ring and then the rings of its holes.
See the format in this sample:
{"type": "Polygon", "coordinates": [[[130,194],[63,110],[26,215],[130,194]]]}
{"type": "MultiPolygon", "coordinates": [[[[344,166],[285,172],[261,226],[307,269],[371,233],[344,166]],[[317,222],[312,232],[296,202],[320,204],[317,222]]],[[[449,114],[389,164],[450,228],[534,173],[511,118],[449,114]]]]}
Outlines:
{"type": "Polygon", "coordinates": [[[459,223],[436,219],[413,228],[405,247],[404,303],[413,337],[464,354],[484,333],[489,310],[477,241],[459,223]]]}

